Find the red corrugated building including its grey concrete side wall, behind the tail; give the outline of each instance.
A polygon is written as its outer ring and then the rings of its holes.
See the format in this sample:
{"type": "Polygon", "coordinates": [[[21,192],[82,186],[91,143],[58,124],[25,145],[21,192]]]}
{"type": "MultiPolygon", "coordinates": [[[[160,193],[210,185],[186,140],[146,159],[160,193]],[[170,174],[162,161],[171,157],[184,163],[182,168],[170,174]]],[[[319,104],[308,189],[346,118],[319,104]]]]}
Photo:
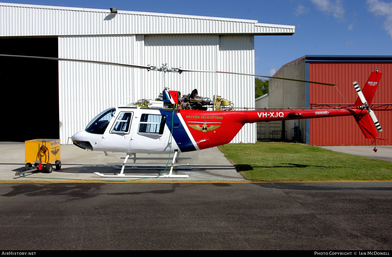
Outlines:
{"type": "MultiPolygon", "coordinates": [[[[305,55],[282,66],[274,77],[336,84],[336,87],[270,79],[269,95],[256,99],[268,108],[333,108],[353,105],[358,98],[352,82],[363,87],[372,71],[383,73],[371,108],[383,132],[376,144],[392,144],[392,56],[305,55]],[[268,105],[268,106],[266,106],[268,105]]],[[[258,123],[258,138],[293,140],[294,122],[300,127],[298,141],[316,146],[369,145],[353,117],[328,117],[258,123]],[[283,132],[284,131],[284,132],[283,132]],[[283,132],[283,133],[282,133],[283,132]]]]}

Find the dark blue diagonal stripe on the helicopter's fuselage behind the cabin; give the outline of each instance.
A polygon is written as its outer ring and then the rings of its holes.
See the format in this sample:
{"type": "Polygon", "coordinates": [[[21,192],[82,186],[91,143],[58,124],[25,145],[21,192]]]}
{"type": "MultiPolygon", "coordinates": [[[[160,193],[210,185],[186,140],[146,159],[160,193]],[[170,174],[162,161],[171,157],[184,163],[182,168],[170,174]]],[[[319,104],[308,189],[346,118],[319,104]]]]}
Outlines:
{"type": "Polygon", "coordinates": [[[187,131],[181,123],[180,118],[178,118],[177,113],[174,113],[174,120],[172,121],[173,113],[171,111],[164,111],[163,109],[159,110],[162,115],[167,115],[166,118],[166,126],[169,131],[172,131],[172,123],[173,123],[173,138],[176,141],[178,147],[181,152],[190,152],[196,151],[187,131]]]}

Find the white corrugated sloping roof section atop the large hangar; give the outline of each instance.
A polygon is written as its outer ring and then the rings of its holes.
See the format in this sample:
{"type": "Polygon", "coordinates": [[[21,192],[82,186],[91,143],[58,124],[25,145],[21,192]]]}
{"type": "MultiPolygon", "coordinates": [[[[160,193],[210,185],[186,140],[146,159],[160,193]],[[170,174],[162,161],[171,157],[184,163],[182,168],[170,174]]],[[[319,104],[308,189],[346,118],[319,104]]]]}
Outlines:
{"type": "Polygon", "coordinates": [[[0,3],[0,36],[114,34],[292,35],[295,26],[166,13],[0,3]]]}

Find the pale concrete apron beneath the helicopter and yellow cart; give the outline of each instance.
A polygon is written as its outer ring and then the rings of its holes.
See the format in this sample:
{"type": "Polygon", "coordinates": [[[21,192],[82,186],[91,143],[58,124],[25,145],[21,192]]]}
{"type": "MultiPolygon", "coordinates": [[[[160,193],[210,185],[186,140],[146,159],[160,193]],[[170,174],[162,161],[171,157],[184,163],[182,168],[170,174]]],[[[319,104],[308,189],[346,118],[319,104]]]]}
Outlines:
{"type": "MultiPolygon", "coordinates": [[[[87,151],[78,148],[74,145],[61,145],[61,170],[56,170],[53,165],[52,173],[36,172],[26,173],[25,177],[15,176],[16,169],[23,169],[25,166],[25,148],[24,143],[7,143],[2,142],[0,144],[0,181],[1,180],[12,180],[12,181],[24,181],[24,180],[105,180],[105,181],[124,181],[124,180],[136,180],[138,178],[103,178],[94,174],[99,172],[103,174],[118,174],[121,170],[117,170],[107,162],[122,163],[125,158],[125,153],[112,153],[108,152],[106,156],[103,152],[98,151],[87,151]]],[[[173,156],[173,154],[171,155],[173,156]]],[[[168,154],[164,155],[148,155],[148,154],[136,154],[136,157],[142,158],[168,158],[168,154]]],[[[179,163],[189,163],[192,170],[174,170],[173,174],[178,175],[189,175],[189,178],[154,178],[154,179],[142,179],[138,181],[148,180],[162,180],[162,181],[245,181],[240,173],[237,172],[236,168],[231,164],[218,148],[204,149],[200,151],[194,151],[189,153],[181,153],[180,158],[190,157],[190,160],[179,160],[179,163]]],[[[137,163],[167,163],[166,160],[136,160],[137,163]]],[[[133,163],[132,157],[130,157],[127,163],[133,163]]],[[[165,174],[170,171],[170,164],[165,174]]],[[[158,172],[163,170],[125,170],[124,174],[143,174],[143,175],[156,175],[158,172]]]]}

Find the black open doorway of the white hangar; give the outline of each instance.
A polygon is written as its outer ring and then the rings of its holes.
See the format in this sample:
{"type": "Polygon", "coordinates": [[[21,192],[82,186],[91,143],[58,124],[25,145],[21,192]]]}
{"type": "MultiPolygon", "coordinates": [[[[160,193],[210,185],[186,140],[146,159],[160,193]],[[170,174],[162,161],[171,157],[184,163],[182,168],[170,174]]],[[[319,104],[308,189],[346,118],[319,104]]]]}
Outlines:
{"type": "MultiPolygon", "coordinates": [[[[56,38],[0,38],[0,53],[58,57],[56,38]]],[[[59,138],[58,61],[0,57],[0,141],[59,138]]]]}

